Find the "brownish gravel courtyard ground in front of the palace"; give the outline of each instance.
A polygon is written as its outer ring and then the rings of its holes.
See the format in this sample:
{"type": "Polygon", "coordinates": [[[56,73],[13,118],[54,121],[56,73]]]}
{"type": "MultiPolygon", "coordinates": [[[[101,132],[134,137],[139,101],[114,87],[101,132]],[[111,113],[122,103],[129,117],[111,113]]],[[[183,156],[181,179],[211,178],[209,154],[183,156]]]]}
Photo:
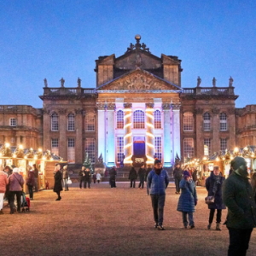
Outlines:
{"type": "MultiPolygon", "coordinates": [[[[137,183],[138,184],[138,183],[137,183]]],[[[206,189],[197,187],[195,229],[183,230],[177,212],[174,184],[166,190],[165,231],[154,229],[153,211],[146,189],[130,183],[107,182],[79,189],[73,183],[55,201],[52,190],[34,194],[31,212],[1,216],[0,255],[226,255],[229,234],[207,230],[206,189]]],[[[223,212],[223,222],[227,214],[223,212]]],[[[213,221],[214,222],[214,221],[213,221]]],[[[213,225],[214,227],[214,225],[213,225]]],[[[247,255],[255,255],[256,231],[247,255]]]]}

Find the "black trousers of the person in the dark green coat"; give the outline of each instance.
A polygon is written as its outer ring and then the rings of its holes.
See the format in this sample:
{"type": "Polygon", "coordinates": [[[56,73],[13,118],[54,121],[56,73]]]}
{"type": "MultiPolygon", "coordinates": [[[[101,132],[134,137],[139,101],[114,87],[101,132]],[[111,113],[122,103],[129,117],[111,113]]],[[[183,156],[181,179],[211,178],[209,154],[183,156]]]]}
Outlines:
{"type": "Polygon", "coordinates": [[[249,241],[253,229],[236,230],[228,228],[230,231],[230,246],[228,256],[245,256],[249,247],[249,241]]]}

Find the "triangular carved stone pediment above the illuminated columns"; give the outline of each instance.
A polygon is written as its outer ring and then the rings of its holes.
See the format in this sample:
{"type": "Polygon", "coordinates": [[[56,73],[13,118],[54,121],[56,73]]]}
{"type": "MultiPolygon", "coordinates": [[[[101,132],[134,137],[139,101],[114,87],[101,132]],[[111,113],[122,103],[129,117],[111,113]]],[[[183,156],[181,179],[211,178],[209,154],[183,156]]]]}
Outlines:
{"type": "Polygon", "coordinates": [[[138,68],[119,79],[103,84],[97,90],[180,90],[180,88],[138,68]]]}

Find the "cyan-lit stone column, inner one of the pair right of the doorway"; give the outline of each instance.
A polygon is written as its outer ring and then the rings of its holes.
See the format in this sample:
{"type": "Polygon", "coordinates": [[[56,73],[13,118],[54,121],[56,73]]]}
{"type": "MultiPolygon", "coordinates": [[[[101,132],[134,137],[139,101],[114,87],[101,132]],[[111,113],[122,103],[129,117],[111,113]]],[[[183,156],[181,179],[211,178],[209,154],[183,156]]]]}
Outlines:
{"type": "Polygon", "coordinates": [[[164,141],[162,142],[164,148],[164,166],[172,166],[173,161],[173,142],[172,142],[172,121],[171,121],[171,105],[164,103],[162,105],[164,111],[164,141]]]}

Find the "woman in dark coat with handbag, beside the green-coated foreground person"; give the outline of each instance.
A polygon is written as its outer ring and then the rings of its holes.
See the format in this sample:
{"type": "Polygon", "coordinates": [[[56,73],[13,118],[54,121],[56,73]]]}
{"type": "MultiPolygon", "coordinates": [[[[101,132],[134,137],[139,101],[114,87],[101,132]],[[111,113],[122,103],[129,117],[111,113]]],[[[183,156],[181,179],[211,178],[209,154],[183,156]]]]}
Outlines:
{"type": "Polygon", "coordinates": [[[221,230],[221,213],[222,210],[226,208],[222,200],[222,186],[224,179],[225,178],[222,177],[221,172],[218,170],[218,166],[214,166],[210,177],[207,177],[206,180],[208,196],[214,196],[214,202],[212,204],[208,204],[208,209],[210,209],[209,224],[207,226],[208,230],[211,230],[215,210],[217,210],[216,230],[221,230]]]}

